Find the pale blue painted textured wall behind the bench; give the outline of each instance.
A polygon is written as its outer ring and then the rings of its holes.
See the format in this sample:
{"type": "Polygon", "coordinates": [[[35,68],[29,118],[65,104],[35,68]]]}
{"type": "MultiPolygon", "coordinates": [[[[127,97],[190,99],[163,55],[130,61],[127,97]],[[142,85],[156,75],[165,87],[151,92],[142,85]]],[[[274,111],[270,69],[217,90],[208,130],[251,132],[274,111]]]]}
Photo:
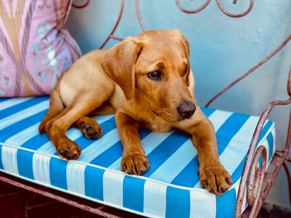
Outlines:
{"type": "MultiPolygon", "coordinates": [[[[200,8],[206,0],[181,0],[187,10],[200,8]]],[[[79,3],[79,2],[78,2],[79,3]]],[[[80,3],[81,4],[81,3],[80,3]]],[[[250,1],[221,0],[230,13],[249,8],[250,1]]],[[[98,49],[112,31],[121,1],[91,1],[83,9],[72,8],[66,26],[82,53],[98,49]]],[[[147,30],[179,29],[189,40],[190,63],[195,77],[195,95],[204,106],[215,94],[265,59],[291,34],[291,1],[254,0],[252,10],[239,18],[229,17],[215,0],[200,12],[182,12],[175,0],[141,0],[141,17],[147,30]]],[[[141,33],[135,1],[125,0],[120,24],[114,35],[125,38],[141,33]]],[[[105,47],[119,41],[110,39],[105,47]]],[[[210,107],[251,115],[261,115],[273,100],[287,100],[287,77],[291,64],[291,41],[274,57],[244,78],[210,107]]],[[[276,107],[269,119],[276,122],[276,145],[285,146],[290,106],[276,107]]],[[[291,168],[290,164],[289,167],[291,168]]],[[[280,171],[266,202],[290,208],[288,184],[280,171]]]]}

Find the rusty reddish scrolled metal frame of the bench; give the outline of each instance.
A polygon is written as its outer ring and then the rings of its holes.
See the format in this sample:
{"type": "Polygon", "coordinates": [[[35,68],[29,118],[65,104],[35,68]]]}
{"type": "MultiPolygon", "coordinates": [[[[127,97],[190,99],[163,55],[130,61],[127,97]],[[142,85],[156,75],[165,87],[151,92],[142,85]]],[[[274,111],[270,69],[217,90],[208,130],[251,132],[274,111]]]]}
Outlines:
{"type": "MultiPolygon", "coordinates": [[[[88,5],[89,1],[90,0],[87,0],[87,2],[85,3],[84,6],[88,5]]],[[[200,12],[201,10],[203,10],[205,7],[207,7],[207,5],[210,3],[211,0],[205,0],[206,2],[203,4],[203,6],[201,6],[200,8],[198,8],[196,10],[187,10],[181,6],[179,0],[175,0],[175,1],[176,1],[178,8],[180,10],[182,10],[183,12],[185,12],[185,13],[197,13],[197,12],[200,12]]],[[[253,4],[254,4],[254,0],[250,0],[249,8],[245,12],[238,14],[238,15],[235,15],[235,14],[232,14],[232,13],[226,11],[223,8],[222,4],[220,3],[220,0],[216,0],[216,2],[217,2],[218,7],[220,8],[220,10],[223,13],[225,13],[226,15],[228,15],[230,17],[235,17],[235,18],[242,17],[242,16],[248,14],[251,11],[251,9],[253,8],[253,4]]],[[[235,4],[236,2],[237,2],[237,0],[234,0],[233,4],[235,4]]],[[[140,24],[142,30],[145,31],[146,28],[145,28],[143,21],[142,21],[141,12],[140,12],[140,8],[139,8],[139,0],[136,0],[135,3],[136,3],[136,13],[137,13],[137,17],[139,20],[139,24],[140,24]]],[[[115,30],[120,22],[120,19],[123,15],[124,4],[125,4],[125,0],[121,0],[120,13],[119,13],[118,19],[116,21],[116,24],[100,48],[103,48],[104,45],[111,38],[116,39],[116,40],[120,40],[120,41],[123,40],[122,38],[116,37],[113,34],[114,34],[114,32],[115,32],[115,30]]],[[[84,6],[75,6],[75,7],[82,8],[84,6]]],[[[255,69],[257,69],[262,64],[267,62],[276,53],[278,53],[278,51],[280,51],[285,46],[285,44],[287,44],[287,42],[290,41],[290,39],[291,39],[291,34],[287,37],[287,39],[275,51],[273,51],[271,54],[269,54],[269,56],[267,56],[265,59],[263,59],[261,62],[259,62],[257,65],[255,65],[253,68],[251,68],[248,72],[246,72],[245,74],[240,76],[237,80],[235,80],[233,83],[231,83],[226,88],[221,90],[212,99],[210,99],[210,101],[205,105],[205,107],[208,107],[221,94],[223,94],[224,92],[229,90],[236,83],[241,81],[243,78],[245,78],[246,76],[251,74],[253,71],[255,71],[255,69]]],[[[288,76],[287,92],[288,92],[288,95],[290,96],[290,98],[286,101],[272,101],[271,103],[269,103],[269,105],[263,111],[263,113],[258,121],[255,132],[253,134],[253,138],[251,140],[251,144],[249,146],[249,151],[247,153],[246,162],[244,165],[242,178],[241,178],[240,185],[239,185],[239,191],[238,191],[236,208],[235,208],[235,217],[236,218],[239,218],[239,217],[243,217],[243,218],[257,217],[257,215],[260,211],[260,208],[262,207],[262,204],[264,203],[264,201],[267,197],[267,194],[269,193],[269,190],[271,189],[271,187],[274,183],[274,180],[275,180],[276,176],[278,175],[278,172],[282,166],[284,167],[286,174],[287,174],[287,178],[288,178],[289,197],[290,197],[290,205],[291,205],[291,175],[290,175],[290,171],[286,165],[286,161],[291,162],[291,159],[288,156],[289,150],[290,150],[290,142],[291,142],[291,113],[290,113],[290,117],[289,117],[289,127],[288,127],[288,134],[287,134],[285,149],[276,149],[275,155],[273,156],[273,158],[270,162],[271,164],[276,166],[273,173],[265,172],[265,169],[266,169],[266,148],[265,148],[265,146],[260,145],[256,149],[258,139],[260,137],[260,133],[261,133],[262,128],[265,124],[265,121],[266,121],[268,115],[270,114],[270,112],[272,111],[272,109],[277,105],[290,105],[290,103],[291,103],[291,67],[290,67],[289,76],[288,76]],[[262,156],[262,158],[261,158],[261,167],[259,168],[259,167],[257,167],[257,165],[258,165],[258,161],[259,161],[260,156],[262,156]],[[267,185],[266,185],[265,189],[262,191],[262,187],[263,187],[264,182],[267,183],[267,185]],[[244,210],[244,206],[242,206],[242,203],[243,203],[243,198],[244,198],[244,193],[245,193],[246,188],[247,188],[246,199],[247,199],[248,205],[250,206],[250,209],[244,210]],[[242,211],[242,210],[244,210],[244,211],[242,211]]],[[[97,208],[92,208],[92,207],[77,203],[75,201],[71,201],[69,199],[63,198],[61,196],[57,196],[57,195],[51,194],[49,192],[39,190],[39,189],[34,188],[34,187],[24,185],[22,183],[13,181],[11,179],[8,179],[8,178],[2,177],[2,176],[0,176],[0,181],[24,188],[24,189],[32,191],[32,192],[36,192],[38,194],[42,194],[44,196],[61,201],[63,203],[67,203],[69,205],[72,205],[72,206],[75,206],[77,208],[95,213],[95,214],[103,216],[103,217],[121,218],[121,217],[118,217],[118,216],[115,216],[115,215],[112,215],[112,214],[109,214],[107,212],[102,211],[106,207],[104,205],[98,206],[97,208]]]]}

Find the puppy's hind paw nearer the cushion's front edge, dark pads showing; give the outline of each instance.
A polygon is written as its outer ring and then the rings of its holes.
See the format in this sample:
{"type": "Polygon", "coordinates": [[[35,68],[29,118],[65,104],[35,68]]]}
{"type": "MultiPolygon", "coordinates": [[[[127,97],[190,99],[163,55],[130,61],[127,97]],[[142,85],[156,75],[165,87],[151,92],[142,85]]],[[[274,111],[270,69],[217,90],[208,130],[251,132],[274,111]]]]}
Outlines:
{"type": "Polygon", "coordinates": [[[58,154],[67,160],[76,160],[81,155],[81,148],[69,139],[60,140],[57,146],[58,154]]]}

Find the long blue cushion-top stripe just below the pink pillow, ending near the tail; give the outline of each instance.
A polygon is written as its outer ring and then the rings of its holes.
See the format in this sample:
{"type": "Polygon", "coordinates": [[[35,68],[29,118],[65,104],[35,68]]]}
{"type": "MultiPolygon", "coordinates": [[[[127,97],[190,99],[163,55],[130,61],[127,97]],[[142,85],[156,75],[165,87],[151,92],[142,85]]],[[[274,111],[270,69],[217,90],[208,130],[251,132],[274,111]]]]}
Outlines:
{"type": "MultiPolygon", "coordinates": [[[[49,99],[49,97],[45,96],[45,97],[35,97],[35,98],[32,98],[32,99],[29,99],[27,101],[24,101],[22,103],[19,103],[17,105],[14,105],[14,106],[11,106],[9,108],[6,108],[4,110],[1,110],[0,111],[0,119],[4,118],[4,117],[8,117],[12,114],[15,114],[17,112],[19,112],[20,108],[21,110],[24,110],[26,108],[29,108],[31,106],[34,106],[42,101],[46,101],[47,99],[49,99]]],[[[46,109],[47,111],[47,109],[46,109]]]]}

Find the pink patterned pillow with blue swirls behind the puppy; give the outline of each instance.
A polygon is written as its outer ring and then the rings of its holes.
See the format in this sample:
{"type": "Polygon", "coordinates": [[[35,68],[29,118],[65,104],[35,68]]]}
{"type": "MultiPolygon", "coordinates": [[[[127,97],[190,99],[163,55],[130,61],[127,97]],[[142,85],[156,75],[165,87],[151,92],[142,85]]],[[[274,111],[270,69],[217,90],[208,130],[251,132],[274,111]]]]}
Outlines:
{"type": "Polygon", "coordinates": [[[49,95],[81,56],[64,24],[72,0],[0,0],[0,97],[49,95]]]}

